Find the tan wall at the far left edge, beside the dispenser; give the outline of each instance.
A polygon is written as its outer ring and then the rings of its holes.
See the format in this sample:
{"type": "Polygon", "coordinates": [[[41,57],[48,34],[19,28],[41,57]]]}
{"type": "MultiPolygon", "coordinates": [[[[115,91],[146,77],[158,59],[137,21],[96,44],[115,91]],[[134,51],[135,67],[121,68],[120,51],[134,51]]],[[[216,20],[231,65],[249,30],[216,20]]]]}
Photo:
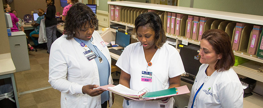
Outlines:
{"type": "MultiPolygon", "coordinates": [[[[0,0],[0,4],[3,4],[3,2],[0,0]]],[[[4,54],[4,53],[10,53],[10,46],[9,46],[9,40],[8,40],[8,36],[7,36],[7,31],[6,31],[6,21],[5,21],[5,15],[4,15],[4,8],[3,5],[0,6],[0,19],[2,19],[2,21],[0,21],[0,54],[4,54]]]]}

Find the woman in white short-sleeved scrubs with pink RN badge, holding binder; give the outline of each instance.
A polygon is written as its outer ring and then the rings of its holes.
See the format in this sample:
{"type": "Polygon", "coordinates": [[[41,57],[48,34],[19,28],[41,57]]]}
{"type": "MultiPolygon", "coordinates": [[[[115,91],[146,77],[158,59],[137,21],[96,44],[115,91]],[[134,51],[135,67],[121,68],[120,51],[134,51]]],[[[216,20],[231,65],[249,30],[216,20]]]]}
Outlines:
{"type": "MultiPolygon", "coordinates": [[[[133,90],[149,92],[180,86],[183,62],[179,52],[166,44],[160,17],[154,12],[140,14],[134,32],[139,40],[128,45],[116,65],[122,69],[119,83],[133,90]]],[[[124,97],[123,108],[173,108],[174,98],[135,101],[124,97]]]]}

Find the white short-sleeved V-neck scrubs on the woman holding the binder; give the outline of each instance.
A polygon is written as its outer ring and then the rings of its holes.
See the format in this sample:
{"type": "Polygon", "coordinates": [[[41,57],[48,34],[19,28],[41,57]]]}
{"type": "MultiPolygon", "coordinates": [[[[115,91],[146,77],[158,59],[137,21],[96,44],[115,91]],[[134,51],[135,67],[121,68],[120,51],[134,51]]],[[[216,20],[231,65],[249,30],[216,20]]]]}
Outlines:
{"type": "MultiPolygon", "coordinates": [[[[152,82],[141,81],[142,71],[146,71],[148,66],[145,60],[143,46],[140,42],[128,45],[116,65],[124,72],[131,75],[130,89],[140,91],[148,88],[149,92],[168,89],[169,77],[176,77],[184,73],[183,62],[179,52],[171,45],[164,44],[157,49],[152,60],[152,66],[148,67],[148,71],[152,72],[152,82]]],[[[170,98],[167,103],[162,101],[123,101],[123,108],[172,108],[174,98],[170,98]]]]}

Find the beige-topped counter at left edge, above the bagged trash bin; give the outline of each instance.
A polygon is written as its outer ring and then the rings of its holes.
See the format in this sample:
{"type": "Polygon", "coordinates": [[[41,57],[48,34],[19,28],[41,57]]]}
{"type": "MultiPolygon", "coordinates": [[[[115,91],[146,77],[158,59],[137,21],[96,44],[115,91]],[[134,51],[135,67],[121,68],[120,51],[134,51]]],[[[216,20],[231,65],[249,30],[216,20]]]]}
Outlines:
{"type": "Polygon", "coordinates": [[[11,78],[13,86],[16,107],[19,108],[17,91],[15,86],[15,65],[11,58],[11,53],[0,54],[0,79],[11,78]]]}

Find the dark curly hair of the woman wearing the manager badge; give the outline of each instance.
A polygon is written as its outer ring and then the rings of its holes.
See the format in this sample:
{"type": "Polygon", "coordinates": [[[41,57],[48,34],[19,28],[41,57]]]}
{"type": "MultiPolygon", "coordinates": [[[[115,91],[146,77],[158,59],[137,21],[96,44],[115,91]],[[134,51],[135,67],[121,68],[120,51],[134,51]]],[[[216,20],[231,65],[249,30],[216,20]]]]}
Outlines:
{"type": "MultiPolygon", "coordinates": [[[[74,37],[74,31],[86,28],[88,23],[89,27],[94,25],[95,30],[98,28],[98,19],[93,11],[83,3],[76,3],[71,6],[67,12],[66,21],[64,24],[64,34],[67,35],[66,39],[70,40],[74,37]]],[[[79,34],[80,35],[80,34],[79,34]]]]}

